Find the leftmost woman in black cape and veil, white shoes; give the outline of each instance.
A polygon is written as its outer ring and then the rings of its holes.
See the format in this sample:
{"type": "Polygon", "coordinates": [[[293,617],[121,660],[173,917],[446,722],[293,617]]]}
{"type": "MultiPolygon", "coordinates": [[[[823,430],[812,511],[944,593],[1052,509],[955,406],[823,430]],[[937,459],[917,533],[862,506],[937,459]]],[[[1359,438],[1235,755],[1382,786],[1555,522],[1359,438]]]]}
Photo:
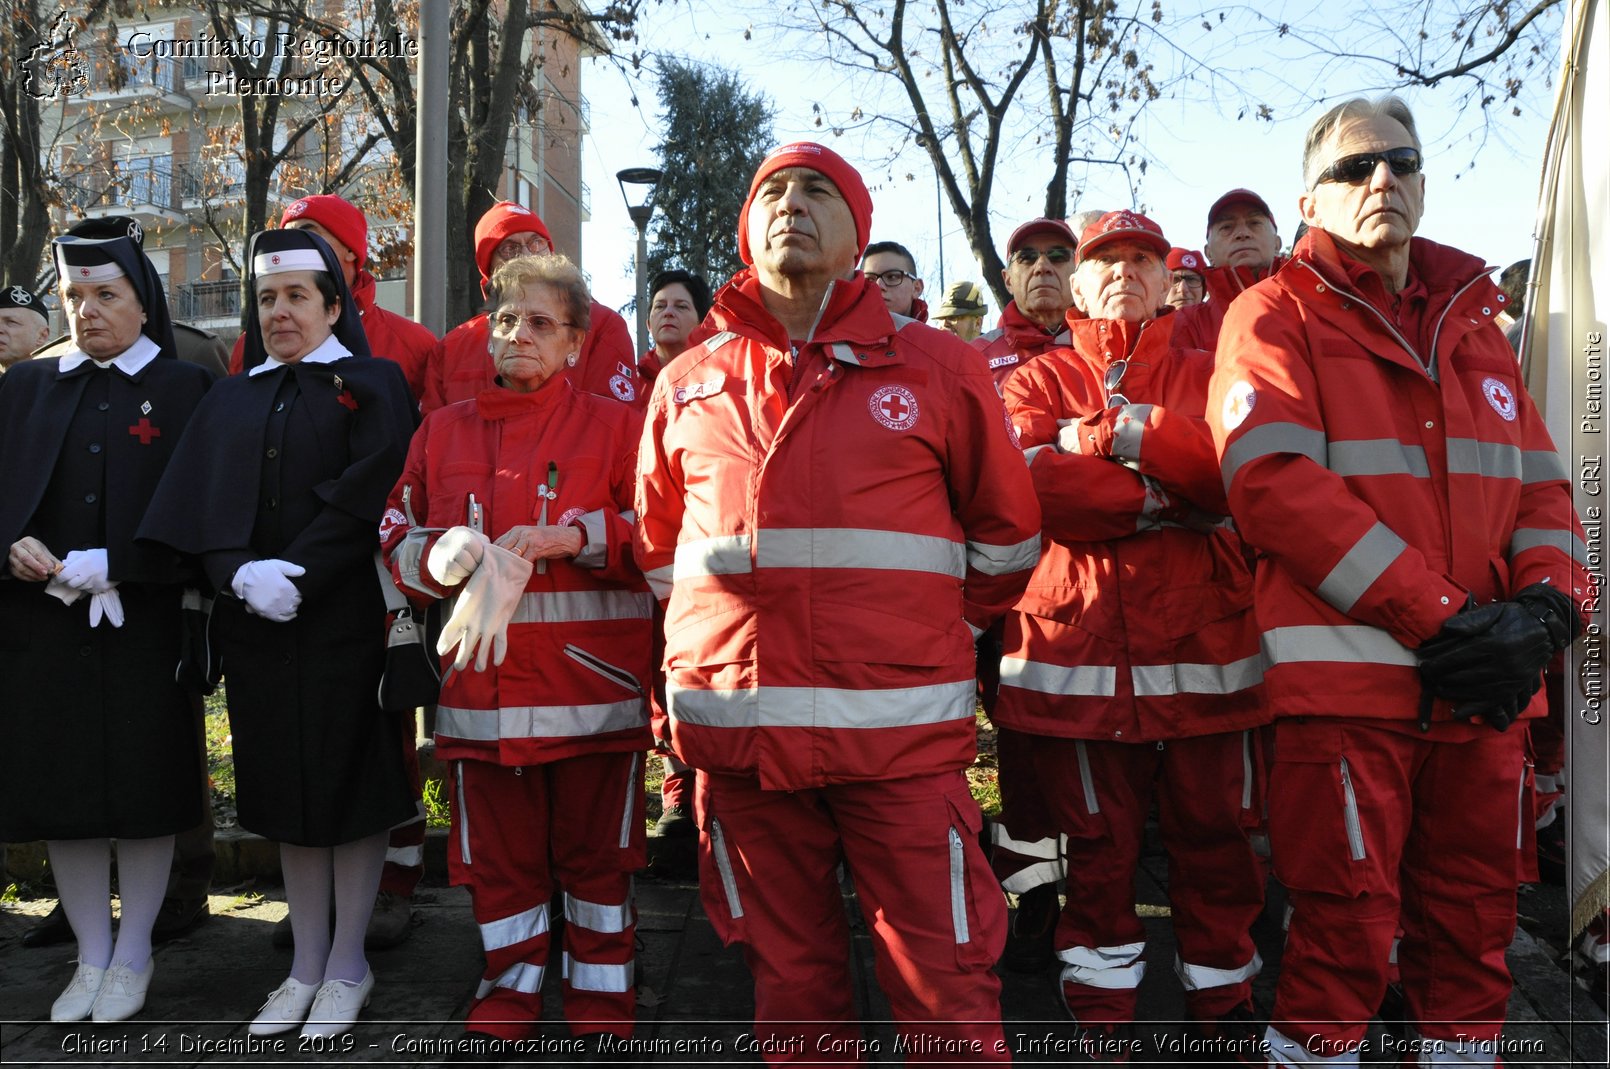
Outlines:
{"type": "Polygon", "coordinates": [[[98,219],[56,238],[71,346],[0,378],[0,840],[47,840],[77,939],[53,1021],[145,1005],[174,832],[201,819],[201,750],[174,676],[196,576],[135,531],[213,375],[175,359],[161,279],[130,225],[98,219]]]}

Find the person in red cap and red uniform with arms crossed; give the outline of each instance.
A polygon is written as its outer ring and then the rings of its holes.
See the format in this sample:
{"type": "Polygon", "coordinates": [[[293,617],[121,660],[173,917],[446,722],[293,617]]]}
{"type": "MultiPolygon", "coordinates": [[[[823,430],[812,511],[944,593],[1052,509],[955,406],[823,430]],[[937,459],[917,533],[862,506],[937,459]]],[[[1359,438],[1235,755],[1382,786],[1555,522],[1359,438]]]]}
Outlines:
{"type": "MultiPolygon", "coordinates": [[[[1203,1035],[1251,1037],[1249,934],[1262,869],[1249,729],[1269,720],[1241,541],[1203,419],[1212,356],[1161,319],[1169,243],[1114,211],[1079,241],[1072,345],[1006,382],[1045,515],[1006,617],[995,723],[1032,736],[1067,837],[1061,990],[1092,1038],[1122,1040],[1145,972],[1133,876],[1156,797],[1185,1005],[1203,1035]]],[[[1006,784],[1003,784],[1003,789],[1006,784]]]]}

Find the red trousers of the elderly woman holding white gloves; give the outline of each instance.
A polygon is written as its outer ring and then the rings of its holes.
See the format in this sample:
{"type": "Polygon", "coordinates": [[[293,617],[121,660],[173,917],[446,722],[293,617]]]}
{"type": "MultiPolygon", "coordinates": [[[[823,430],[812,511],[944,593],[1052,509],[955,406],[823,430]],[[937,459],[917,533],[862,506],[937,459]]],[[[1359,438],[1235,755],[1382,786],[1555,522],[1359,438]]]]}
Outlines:
{"type": "Polygon", "coordinates": [[[452,882],[470,889],[486,971],[465,1029],[536,1034],[549,961],[547,903],[565,890],[562,992],[576,1035],[631,1035],[631,874],[647,863],[642,753],[506,768],[454,762],[452,882]]]}

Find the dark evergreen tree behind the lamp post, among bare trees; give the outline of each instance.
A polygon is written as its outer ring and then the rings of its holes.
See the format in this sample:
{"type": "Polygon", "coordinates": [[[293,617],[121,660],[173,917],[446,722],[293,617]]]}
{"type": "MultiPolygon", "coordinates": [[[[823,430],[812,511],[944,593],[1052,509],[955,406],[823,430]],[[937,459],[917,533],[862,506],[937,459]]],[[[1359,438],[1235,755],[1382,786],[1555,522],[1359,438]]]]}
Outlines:
{"type": "Polygon", "coordinates": [[[737,213],[749,179],[774,145],[771,103],[729,69],[660,60],[665,140],[650,224],[649,277],[681,267],[720,288],[737,259],[737,213]]]}

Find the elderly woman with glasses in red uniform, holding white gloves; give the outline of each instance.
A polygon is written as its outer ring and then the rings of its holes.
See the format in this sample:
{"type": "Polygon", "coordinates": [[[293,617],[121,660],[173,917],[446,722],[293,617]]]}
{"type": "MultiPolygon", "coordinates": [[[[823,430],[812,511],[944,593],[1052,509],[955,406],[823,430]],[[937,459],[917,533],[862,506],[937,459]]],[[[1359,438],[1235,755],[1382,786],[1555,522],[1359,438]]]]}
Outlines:
{"type": "Polygon", "coordinates": [[[535,1035],[560,887],[572,1030],[628,1037],[654,609],[631,549],[642,417],[570,382],[591,298],[568,259],[502,264],[489,307],[496,378],[425,417],[380,528],[411,599],[452,599],[436,757],[486,956],[465,1029],[493,1048],[535,1035]]]}

